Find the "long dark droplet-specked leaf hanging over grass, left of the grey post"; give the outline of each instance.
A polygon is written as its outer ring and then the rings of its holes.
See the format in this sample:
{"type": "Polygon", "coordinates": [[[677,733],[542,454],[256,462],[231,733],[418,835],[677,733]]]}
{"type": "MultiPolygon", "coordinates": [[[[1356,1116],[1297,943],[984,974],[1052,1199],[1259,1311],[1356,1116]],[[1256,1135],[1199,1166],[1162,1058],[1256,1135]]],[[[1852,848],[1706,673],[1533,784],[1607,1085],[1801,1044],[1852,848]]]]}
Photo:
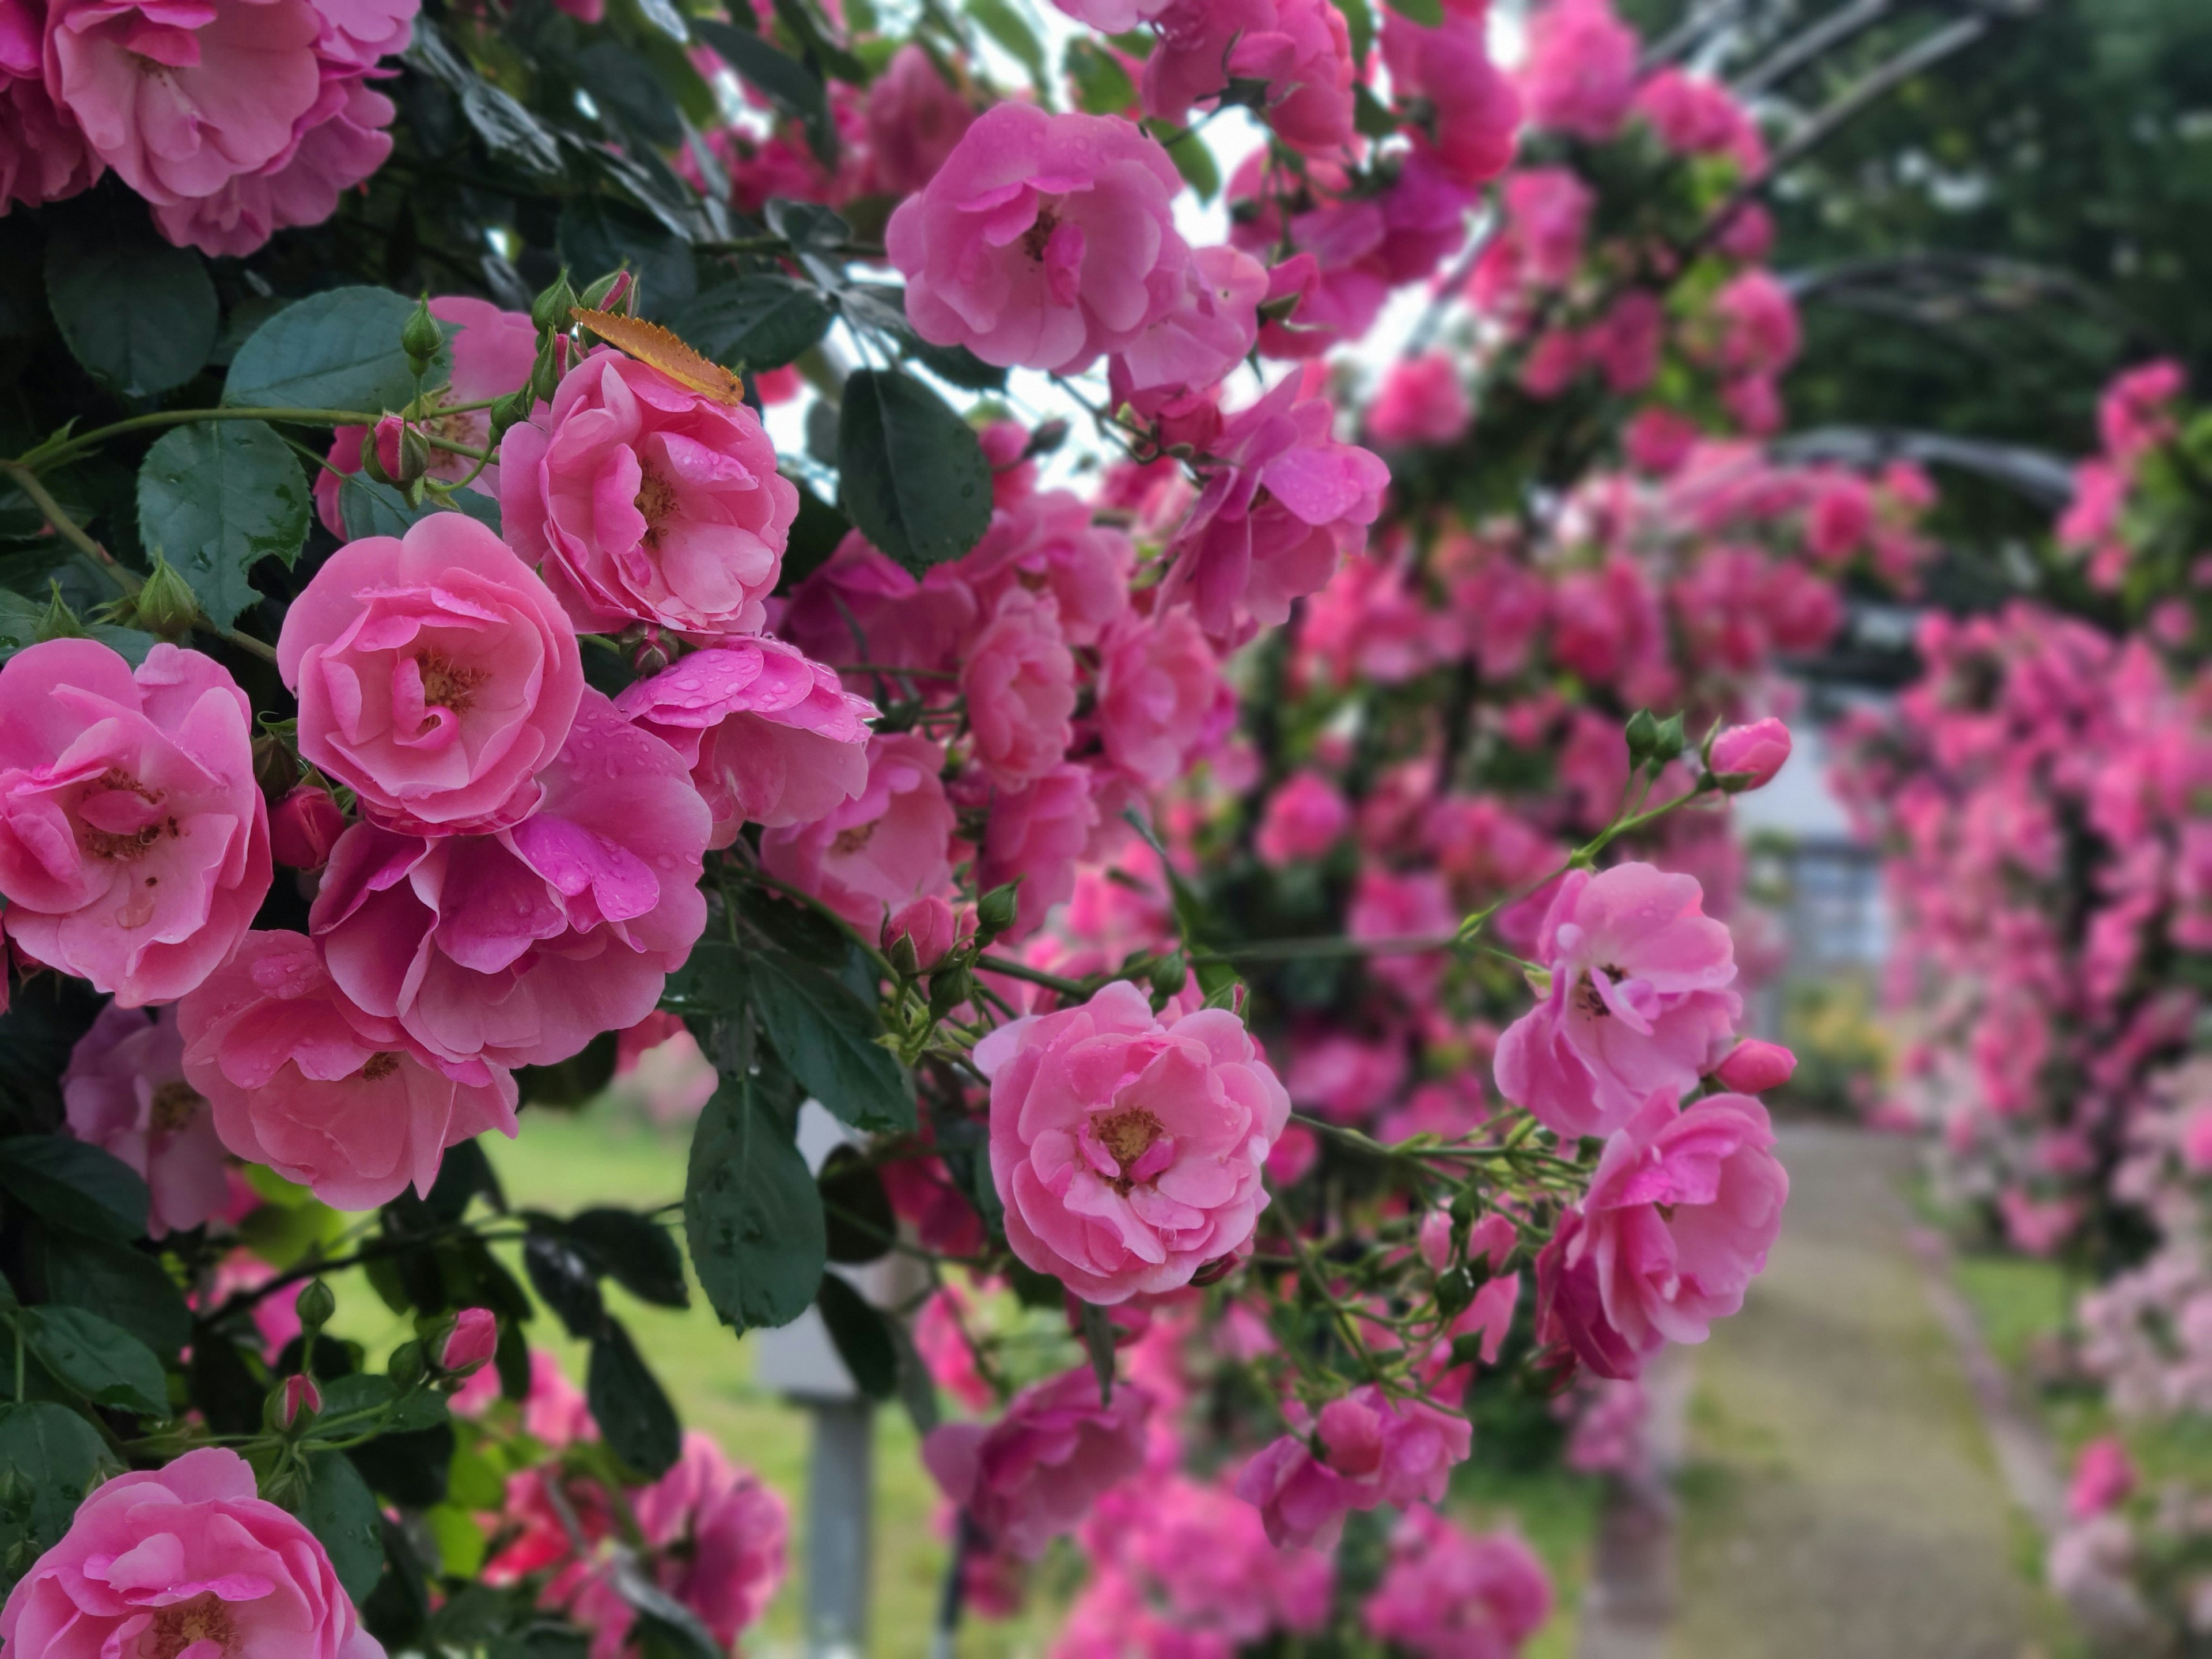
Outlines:
{"type": "Polygon", "coordinates": [[[699,1115],[684,1232],[708,1303],[739,1332],[790,1325],[814,1303],[827,1259],[821,1197],[750,1077],[723,1075],[699,1115]]]}

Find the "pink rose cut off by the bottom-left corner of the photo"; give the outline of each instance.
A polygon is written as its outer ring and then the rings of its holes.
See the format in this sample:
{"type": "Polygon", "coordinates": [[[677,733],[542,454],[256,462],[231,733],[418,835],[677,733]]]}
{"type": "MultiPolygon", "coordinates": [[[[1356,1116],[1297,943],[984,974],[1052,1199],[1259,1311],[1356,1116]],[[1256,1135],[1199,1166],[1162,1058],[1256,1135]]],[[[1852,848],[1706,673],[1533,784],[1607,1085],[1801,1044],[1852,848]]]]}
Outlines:
{"type": "Polygon", "coordinates": [[[97,1486],[0,1610],[9,1659],[383,1659],[330,1555],[223,1447],[97,1486]]]}

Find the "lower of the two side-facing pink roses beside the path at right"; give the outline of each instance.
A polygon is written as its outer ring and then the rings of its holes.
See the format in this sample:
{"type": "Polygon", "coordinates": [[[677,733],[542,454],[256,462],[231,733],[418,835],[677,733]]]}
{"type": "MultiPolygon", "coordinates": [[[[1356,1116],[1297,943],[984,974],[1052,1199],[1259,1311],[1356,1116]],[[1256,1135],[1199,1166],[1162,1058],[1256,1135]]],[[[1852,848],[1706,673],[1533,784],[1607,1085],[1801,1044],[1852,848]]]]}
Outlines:
{"type": "Polygon", "coordinates": [[[1626,1380],[1666,1343],[1743,1307],[1783,1225],[1790,1175],[1750,1095],[1655,1091],[1606,1141],[1582,1210],[1537,1256],[1537,1340],[1626,1380]]]}

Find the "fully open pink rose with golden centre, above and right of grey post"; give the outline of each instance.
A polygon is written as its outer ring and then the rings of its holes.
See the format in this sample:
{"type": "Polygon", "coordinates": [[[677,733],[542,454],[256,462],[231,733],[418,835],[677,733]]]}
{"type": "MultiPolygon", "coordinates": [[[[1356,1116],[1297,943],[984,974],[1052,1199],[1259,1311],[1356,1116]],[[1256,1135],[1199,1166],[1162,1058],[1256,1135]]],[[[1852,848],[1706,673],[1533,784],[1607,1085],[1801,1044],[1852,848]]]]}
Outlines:
{"type": "Polygon", "coordinates": [[[1159,1020],[1117,980],[975,1046],[1006,1243],[1091,1303],[1179,1290],[1252,1239],[1290,1095],[1225,1009],[1159,1020]]]}

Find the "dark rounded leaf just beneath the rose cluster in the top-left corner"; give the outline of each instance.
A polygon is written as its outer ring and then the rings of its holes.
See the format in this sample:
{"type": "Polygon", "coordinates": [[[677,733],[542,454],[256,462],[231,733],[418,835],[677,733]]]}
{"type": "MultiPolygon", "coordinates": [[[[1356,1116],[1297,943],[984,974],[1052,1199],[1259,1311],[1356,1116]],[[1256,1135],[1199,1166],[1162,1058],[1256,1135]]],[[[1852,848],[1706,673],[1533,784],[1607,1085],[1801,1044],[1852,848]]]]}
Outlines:
{"type": "Polygon", "coordinates": [[[46,303],[77,363],[126,398],[199,374],[223,321],[195,250],[117,232],[100,212],[62,223],[46,243],[46,303]]]}

